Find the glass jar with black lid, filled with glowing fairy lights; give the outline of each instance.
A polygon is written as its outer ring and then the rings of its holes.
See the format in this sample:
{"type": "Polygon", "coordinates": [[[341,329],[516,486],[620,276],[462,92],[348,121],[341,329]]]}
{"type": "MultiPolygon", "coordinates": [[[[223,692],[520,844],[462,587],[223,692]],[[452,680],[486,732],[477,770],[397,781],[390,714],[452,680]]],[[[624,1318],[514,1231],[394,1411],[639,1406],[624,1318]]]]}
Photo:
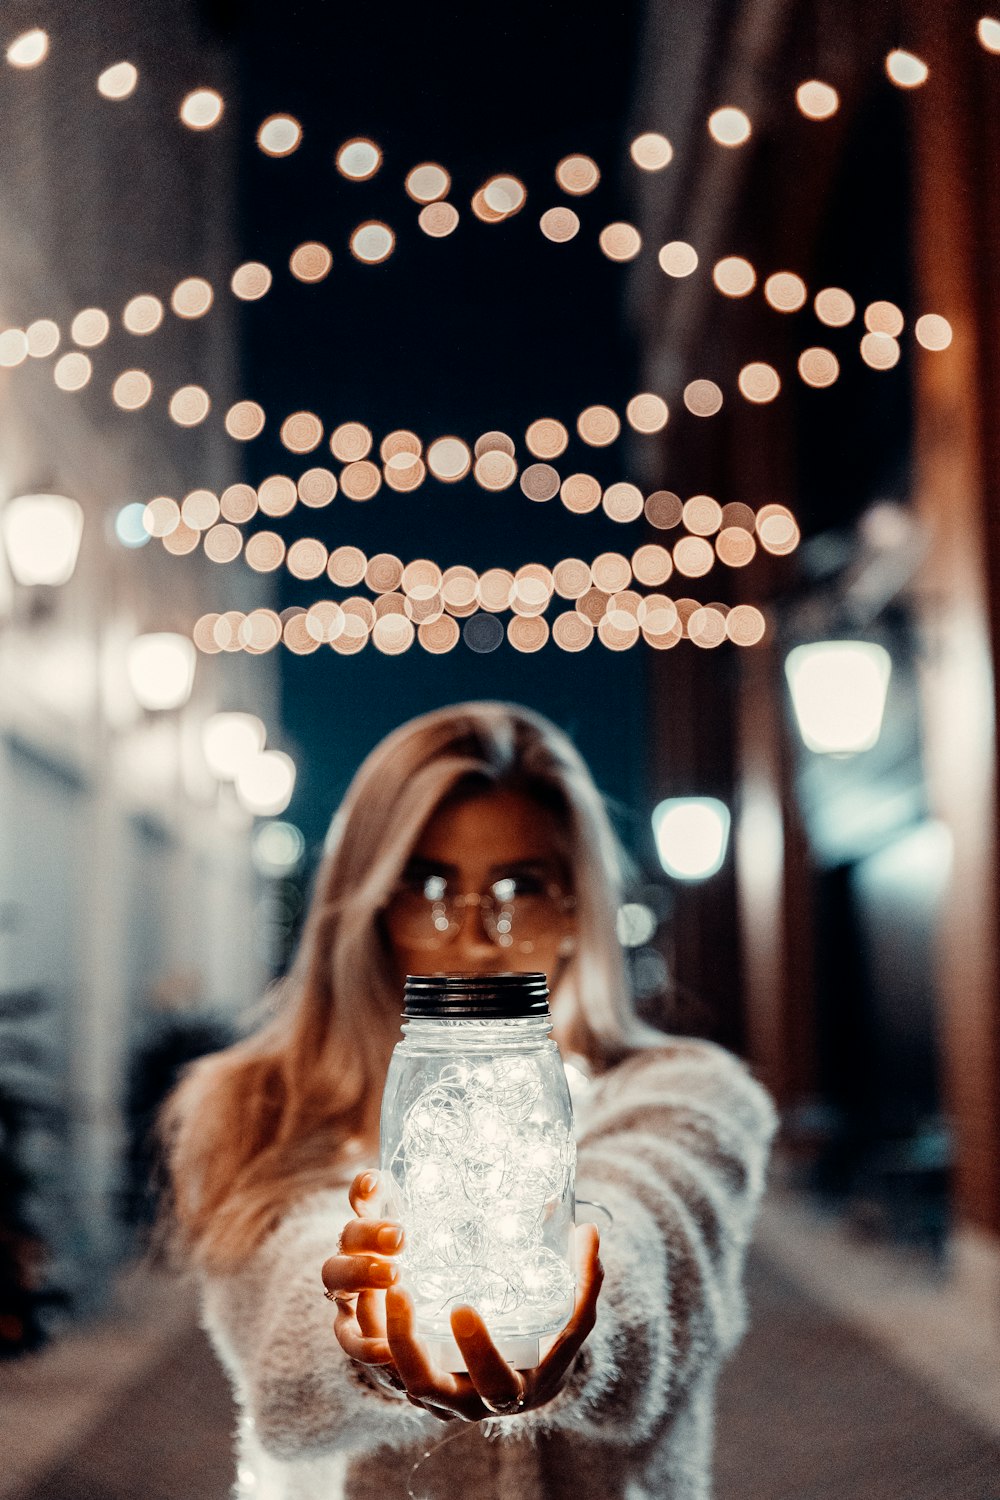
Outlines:
{"type": "Polygon", "coordinates": [[[474,1306],[513,1365],[537,1365],[574,1304],[576,1137],[544,974],[406,978],[385,1078],[384,1210],[400,1281],[444,1370],[450,1312],[474,1306]]]}

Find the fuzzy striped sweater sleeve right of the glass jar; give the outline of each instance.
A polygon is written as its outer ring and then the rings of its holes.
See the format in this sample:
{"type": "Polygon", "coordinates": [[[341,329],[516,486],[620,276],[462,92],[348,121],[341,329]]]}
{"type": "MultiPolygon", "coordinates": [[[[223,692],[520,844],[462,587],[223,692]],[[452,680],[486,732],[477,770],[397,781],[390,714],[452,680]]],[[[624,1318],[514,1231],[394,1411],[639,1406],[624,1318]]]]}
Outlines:
{"type": "MultiPolygon", "coordinates": [[[[640,1443],[747,1328],[744,1260],[778,1125],[745,1064],[678,1040],[610,1070],[577,1152],[577,1192],[606,1204],[597,1324],[547,1406],[505,1436],[573,1431],[640,1443]]],[[[580,1215],[585,1218],[586,1215],[580,1215]]]]}

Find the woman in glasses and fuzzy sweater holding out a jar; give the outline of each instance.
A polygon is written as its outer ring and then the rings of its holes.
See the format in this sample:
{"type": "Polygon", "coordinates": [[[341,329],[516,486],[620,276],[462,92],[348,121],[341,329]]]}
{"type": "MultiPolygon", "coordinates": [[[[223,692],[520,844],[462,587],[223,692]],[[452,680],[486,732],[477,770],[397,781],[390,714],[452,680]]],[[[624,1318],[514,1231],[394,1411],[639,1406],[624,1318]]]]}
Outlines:
{"type": "Polygon", "coordinates": [[[777,1116],[723,1047],[636,1018],[621,874],[583,760],[523,708],[426,714],[357,772],[277,1014],[196,1064],[168,1110],[175,1218],[243,1413],[238,1494],[709,1496],[777,1116]],[[537,1371],[511,1370],[469,1308],[453,1312],[469,1374],[435,1370],[396,1284],[399,1226],[373,1212],[403,978],[442,970],[546,972],[553,1035],[591,1076],[577,1192],[613,1228],[603,1266],[577,1230],[577,1306],[537,1371]]]}

